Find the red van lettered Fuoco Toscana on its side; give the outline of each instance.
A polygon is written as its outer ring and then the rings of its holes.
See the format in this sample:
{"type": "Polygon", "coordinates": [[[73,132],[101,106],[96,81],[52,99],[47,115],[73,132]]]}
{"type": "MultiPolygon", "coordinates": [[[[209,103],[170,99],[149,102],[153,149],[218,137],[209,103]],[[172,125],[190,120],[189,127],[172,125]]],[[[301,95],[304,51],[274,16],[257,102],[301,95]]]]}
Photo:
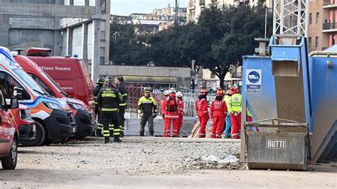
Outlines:
{"type": "Polygon", "coordinates": [[[80,58],[50,57],[50,48],[28,48],[26,55],[41,70],[46,72],[63,90],[75,99],[80,99],[95,112],[95,101],[92,92],[87,66],[80,58]]]}

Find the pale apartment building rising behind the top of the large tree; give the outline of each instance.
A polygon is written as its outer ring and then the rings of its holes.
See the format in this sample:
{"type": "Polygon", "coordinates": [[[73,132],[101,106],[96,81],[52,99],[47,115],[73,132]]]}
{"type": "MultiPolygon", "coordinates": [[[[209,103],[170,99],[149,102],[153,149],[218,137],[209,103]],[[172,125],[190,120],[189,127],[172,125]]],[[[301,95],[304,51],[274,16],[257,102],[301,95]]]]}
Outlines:
{"type": "Polygon", "coordinates": [[[220,6],[224,4],[256,6],[259,1],[263,2],[265,6],[272,8],[272,0],[188,0],[187,18],[188,21],[198,21],[201,11],[210,4],[218,4],[220,6]]]}

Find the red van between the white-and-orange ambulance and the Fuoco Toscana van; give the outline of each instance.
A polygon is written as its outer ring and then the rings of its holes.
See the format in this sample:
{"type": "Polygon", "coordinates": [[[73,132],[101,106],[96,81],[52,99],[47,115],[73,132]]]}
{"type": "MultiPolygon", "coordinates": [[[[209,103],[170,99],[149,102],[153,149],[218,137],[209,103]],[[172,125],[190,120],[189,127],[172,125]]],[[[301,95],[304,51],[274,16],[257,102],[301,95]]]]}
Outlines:
{"type": "MultiPolygon", "coordinates": [[[[20,54],[18,52],[18,54],[20,54]]],[[[28,73],[33,79],[41,85],[46,92],[53,97],[58,97],[67,102],[70,109],[73,111],[75,121],[77,124],[77,132],[75,133],[75,139],[82,139],[85,136],[91,136],[94,131],[95,114],[90,112],[87,105],[78,100],[68,97],[66,92],[48,75],[43,72],[36,63],[31,59],[23,55],[14,55],[16,62],[28,73]]]]}

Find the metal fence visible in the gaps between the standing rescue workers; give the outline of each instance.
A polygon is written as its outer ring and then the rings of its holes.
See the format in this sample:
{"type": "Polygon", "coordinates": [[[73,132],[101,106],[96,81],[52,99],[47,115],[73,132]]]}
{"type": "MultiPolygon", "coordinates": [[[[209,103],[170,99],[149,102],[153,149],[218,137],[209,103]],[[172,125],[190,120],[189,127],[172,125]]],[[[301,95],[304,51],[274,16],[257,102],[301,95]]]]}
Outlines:
{"type": "MultiPolygon", "coordinates": [[[[127,87],[128,99],[127,99],[127,109],[125,112],[126,118],[137,118],[138,117],[138,101],[142,94],[141,87],[127,87]]],[[[179,91],[179,90],[178,90],[179,91]]],[[[185,117],[196,117],[198,114],[196,112],[196,99],[198,99],[199,91],[196,90],[180,90],[183,92],[183,112],[185,117]]],[[[164,97],[164,90],[154,90],[151,93],[158,105],[158,113],[161,115],[161,99],[164,97]]],[[[208,95],[208,101],[211,102],[215,98],[214,95],[208,95]]]]}

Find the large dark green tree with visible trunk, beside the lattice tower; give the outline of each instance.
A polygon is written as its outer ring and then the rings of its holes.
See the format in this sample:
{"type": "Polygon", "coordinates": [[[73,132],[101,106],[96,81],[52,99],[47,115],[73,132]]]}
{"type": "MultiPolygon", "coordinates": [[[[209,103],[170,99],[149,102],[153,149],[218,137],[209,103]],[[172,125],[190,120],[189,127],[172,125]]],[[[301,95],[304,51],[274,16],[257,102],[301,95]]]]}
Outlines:
{"type": "Polygon", "coordinates": [[[230,65],[242,65],[242,55],[254,53],[254,38],[264,36],[264,8],[210,6],[201,12],[198,25],[206,30],[209,48],[198,62],[217,75],[223,87],[230,65]]]}

